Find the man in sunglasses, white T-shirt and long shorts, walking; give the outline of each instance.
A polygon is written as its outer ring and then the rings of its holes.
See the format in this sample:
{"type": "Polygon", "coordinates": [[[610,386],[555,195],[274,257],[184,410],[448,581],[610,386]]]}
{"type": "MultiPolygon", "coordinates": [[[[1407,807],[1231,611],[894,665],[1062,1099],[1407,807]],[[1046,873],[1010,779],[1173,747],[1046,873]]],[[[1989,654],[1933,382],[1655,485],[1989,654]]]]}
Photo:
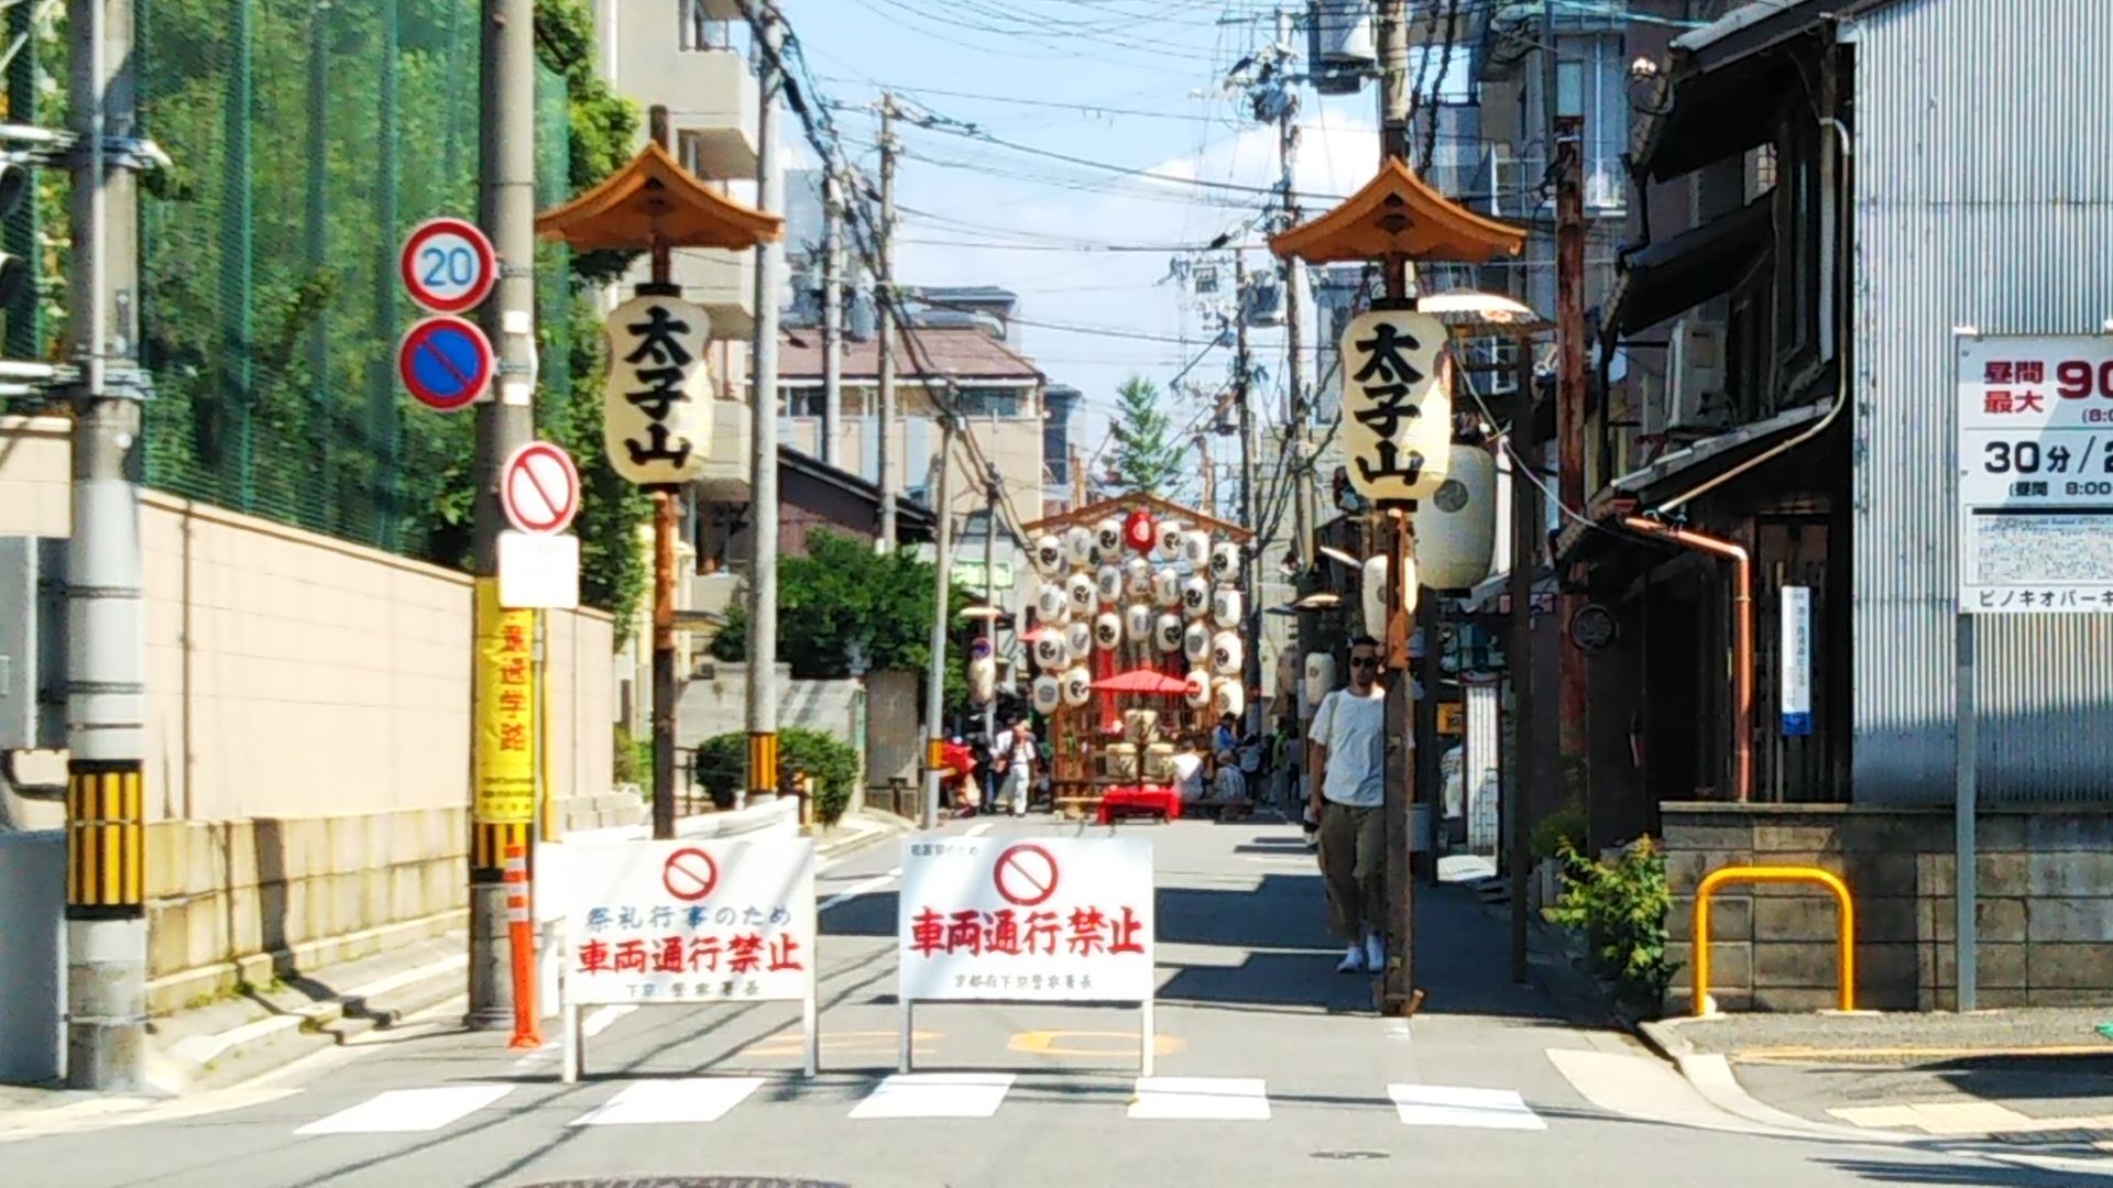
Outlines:
{"type": "Polygon", "coordinates": [[[1329,928],[1348,949],[1338,972],[1386,968],[1386,689],[1380,641],[1350,641],[1350,687],[1314,710],[1308,731],[1312,814],[1321,822],[1321,875],[1329,928]]]}

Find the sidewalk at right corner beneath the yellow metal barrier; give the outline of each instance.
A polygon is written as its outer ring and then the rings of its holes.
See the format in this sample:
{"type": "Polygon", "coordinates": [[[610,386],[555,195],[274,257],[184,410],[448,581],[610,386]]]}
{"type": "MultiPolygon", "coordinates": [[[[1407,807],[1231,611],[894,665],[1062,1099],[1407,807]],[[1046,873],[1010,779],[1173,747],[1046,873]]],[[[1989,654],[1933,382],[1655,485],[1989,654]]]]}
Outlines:
{"type": "Polygon", "coordinates": [[[1642,1032],[1705,1095],[1866,1137],[2113,1152],[2113,1008],[1714,1015],[1642,1032]]]}

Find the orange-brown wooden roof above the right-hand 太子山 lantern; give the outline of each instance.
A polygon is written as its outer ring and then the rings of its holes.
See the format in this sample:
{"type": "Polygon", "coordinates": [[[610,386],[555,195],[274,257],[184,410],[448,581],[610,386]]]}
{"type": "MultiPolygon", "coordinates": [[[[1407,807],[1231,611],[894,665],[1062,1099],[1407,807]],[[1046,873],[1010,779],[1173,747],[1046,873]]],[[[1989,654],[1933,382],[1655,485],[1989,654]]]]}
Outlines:
{"type": "Polygon", "coordinates": [[[1340,207],[1270,237],[1270,252],[1308,264],[1388,256],[1483,264],[1523,249],[1526,228],[1454,203],[1399,156],[1390,156],[1380,173],[1340,207]]]}

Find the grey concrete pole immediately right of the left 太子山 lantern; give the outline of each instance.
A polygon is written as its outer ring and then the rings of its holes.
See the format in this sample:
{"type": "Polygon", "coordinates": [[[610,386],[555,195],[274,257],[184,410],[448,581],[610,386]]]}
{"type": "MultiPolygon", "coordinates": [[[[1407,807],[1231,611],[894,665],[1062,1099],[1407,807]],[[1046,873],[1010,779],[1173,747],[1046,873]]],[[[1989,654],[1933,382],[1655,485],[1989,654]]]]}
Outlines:
{"type": "MultiPolygon", "coordinates": [[[[786,209],[784,159],[778,152],[778,104],[784,97],[784,21],[769,0],[756,4],[761,87],[756,108],[756,207],[786,209]]],[[[754,393],[750,404],[748,522],[748,791],[778,791],[778,277],[784,241],[756,245],[754,393]]]]}

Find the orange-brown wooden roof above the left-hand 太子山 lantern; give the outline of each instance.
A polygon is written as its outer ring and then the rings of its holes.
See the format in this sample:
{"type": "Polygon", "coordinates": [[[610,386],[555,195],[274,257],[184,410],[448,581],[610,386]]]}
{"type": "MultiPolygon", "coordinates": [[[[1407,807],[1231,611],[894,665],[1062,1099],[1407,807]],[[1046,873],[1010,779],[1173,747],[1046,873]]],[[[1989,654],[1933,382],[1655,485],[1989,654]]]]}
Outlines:
{"type": "Polygon", "coordinates": [[[786,222],[712,190],[659,144],[647,144],[630,165],[558,209],[537,216],[535,230],[581,252],[661,247],[725,247],[746,252],[784,239],[786,222]]]}

